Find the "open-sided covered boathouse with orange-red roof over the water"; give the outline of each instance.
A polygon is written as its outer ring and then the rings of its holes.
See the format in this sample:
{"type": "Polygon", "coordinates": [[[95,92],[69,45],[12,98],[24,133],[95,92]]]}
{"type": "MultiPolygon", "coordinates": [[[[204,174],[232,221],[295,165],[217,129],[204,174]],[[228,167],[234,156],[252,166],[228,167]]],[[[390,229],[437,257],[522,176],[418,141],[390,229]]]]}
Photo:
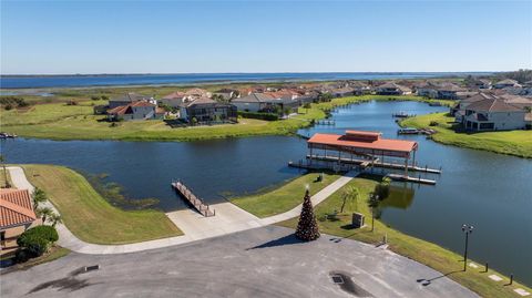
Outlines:
{"type": "Polygon", "coordinates": [[[408,169],[416,168],[417,142],[382,138],[382,133],[378,132],[346,131],[344,135],[317,133],[307,144],[307,163],[310,166],[320,162],[358,164],[362,167],[400,165],[400,168],[405,169],[405,177],[408,176],[408,169]],[[385,157],[391,161],[400,158],[402,163],[385,163],[385,157]]]}

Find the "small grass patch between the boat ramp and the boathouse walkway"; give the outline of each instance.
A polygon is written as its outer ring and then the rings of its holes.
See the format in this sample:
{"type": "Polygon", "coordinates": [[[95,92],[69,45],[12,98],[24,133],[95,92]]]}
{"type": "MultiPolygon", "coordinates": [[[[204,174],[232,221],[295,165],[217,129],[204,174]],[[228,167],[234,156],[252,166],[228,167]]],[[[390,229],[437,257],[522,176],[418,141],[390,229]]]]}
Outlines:
{"type": "Polygon", "coordinates": [[[306,185],[309,186],[309,192],[314,195],[340,177],[335,174],[324,174],[324,181],[316,182],[318,175],[317,173],[306,174],[286,183],[275,191],[236,197],[232,198],[231,202],[262,218],[280,214],[303,203],[306,185]]]}

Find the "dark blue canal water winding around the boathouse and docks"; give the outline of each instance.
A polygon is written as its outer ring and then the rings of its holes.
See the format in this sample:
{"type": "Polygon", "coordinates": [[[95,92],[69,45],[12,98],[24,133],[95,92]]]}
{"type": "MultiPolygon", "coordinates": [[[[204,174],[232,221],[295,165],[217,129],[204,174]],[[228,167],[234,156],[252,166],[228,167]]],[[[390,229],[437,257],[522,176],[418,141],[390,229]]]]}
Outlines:
{"type": "MultiPolygon", "coordinates": [[[[464,244],[460,227],[473,225],[470,256],[532,285],[532,160],[447,146],[421,135],[397,135],[392,113],[446,110],[418,102],[349,105],[332,113],[335,125],[299,134],[355,129],[419,142],[419,165],[441,166],[443,172],[427,176],[438,181],[436,186],[395,183],[396,196],[383,204],[382,220],[460,254],[464,244]]],[[[299,172],[287,167],[287,162],[306,154],[305,141],[289,136],[191,143],[19,138],[2,141],[1,146],[9,163],[60,164],[106,173],[129,196],[156,197],[164,210],[184,207],[170,187],[172,179],[183,179],[209,203],[223,202],[228,195],[253,193],[296,177],[299,172]]]]}

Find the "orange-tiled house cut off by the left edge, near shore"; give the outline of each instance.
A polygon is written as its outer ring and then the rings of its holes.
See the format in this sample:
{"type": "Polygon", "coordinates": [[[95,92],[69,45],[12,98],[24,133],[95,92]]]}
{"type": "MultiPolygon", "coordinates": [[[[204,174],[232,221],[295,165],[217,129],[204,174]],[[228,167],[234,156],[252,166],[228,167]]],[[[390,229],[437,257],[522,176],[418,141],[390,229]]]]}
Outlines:
{"type": "Polygon", "coordinates": [[[0,256],[12,255],[17,238],[40,224],[28,189],[0,188],[0,256]]]}

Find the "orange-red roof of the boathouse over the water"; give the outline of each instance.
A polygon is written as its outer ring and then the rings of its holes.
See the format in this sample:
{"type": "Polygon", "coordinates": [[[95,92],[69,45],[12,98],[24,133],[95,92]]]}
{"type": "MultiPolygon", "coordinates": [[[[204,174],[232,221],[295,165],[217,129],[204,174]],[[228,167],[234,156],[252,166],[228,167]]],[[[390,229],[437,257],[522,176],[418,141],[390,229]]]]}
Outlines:
{"type": "Polygon", "coordinates": [[[308,140],[310,144],[348,146],[365,150],[393,151],[409,153],[418,148],[418,143],[405,140],[382,138],[378,132],[346,131],[346,134],[317,133],[308,140]]]}

